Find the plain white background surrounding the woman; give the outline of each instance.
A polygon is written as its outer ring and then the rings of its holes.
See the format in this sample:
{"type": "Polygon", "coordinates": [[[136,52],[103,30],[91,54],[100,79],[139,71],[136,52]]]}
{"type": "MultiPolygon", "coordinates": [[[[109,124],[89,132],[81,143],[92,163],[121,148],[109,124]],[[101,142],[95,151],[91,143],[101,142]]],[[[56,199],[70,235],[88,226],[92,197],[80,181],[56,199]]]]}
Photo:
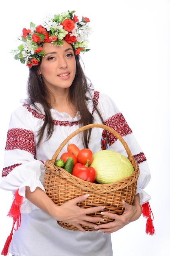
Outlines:
{"type": "MultiPolygon", "coordinates": [[[[96,90],[109,94],[123,113],[144,151],[151,172],[146,191],[151,195],[156,235],[145,234],[142,216],[112,234],[119,256],[170,255],[170,1],[86,0],[3,1],[0,7],[1,132],[0,169],[11,112],[26,97],[28,68],[9,53],[22,29],[39,25],[46,13],[76,10],[91,21],[91,51],[82,56],[85,73],[96,90]],[[61,2],[61,3],[60,3],[61,2]]],[[[0,190],[0,252],[11,231],[7,212],[10,192],[0,190]]],[[[31,246],[31,245],[30,245],[31,246]]]]}

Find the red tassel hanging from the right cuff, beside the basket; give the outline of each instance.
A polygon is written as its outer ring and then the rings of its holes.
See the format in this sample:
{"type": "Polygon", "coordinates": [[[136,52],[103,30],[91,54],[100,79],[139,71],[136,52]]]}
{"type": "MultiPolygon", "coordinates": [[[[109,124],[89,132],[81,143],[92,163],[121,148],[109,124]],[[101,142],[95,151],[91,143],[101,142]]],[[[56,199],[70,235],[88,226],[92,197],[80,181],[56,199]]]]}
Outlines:
{"type": "Polygon", "coordinates": [[[145,204],[142,204],[142,215],[144,216],[144,218],[147,218],[146,221],[146,234],[149,234],[151,236],[153,236],[155,234],[155,229],[153,226],[153,212],[150,209],[150,204],[149,202],[146,202],[145,204]],[[151,218],[151,214],[152,214],[152,218],[151,218]]]}

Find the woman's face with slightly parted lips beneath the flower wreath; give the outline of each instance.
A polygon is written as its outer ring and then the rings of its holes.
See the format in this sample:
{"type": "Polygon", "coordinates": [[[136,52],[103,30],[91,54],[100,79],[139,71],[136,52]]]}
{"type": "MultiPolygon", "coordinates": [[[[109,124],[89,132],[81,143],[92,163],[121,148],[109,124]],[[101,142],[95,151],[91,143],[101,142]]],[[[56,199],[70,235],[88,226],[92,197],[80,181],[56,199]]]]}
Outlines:
{"type": "Polygon", "coordinates": [[[72,46],[63,40],[63,46],[44,43],[46,56],[38,69],[50,92],[68,90],[76,74],[76,60],[72,46]]]}

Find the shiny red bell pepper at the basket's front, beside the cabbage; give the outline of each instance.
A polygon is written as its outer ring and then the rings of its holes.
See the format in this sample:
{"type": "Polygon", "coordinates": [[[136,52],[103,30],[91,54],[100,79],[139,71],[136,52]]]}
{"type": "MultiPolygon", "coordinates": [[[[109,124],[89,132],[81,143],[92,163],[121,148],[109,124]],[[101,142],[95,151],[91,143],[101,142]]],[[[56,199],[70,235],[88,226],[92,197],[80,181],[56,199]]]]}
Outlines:
{"type": "Polygon", "coordinates": [[[96,180],[96,170],[93,167],[87,167],[87,166],[81,163],[75,164],[73,167],[72,175],[82,180],[94,182],[96,180]]]}

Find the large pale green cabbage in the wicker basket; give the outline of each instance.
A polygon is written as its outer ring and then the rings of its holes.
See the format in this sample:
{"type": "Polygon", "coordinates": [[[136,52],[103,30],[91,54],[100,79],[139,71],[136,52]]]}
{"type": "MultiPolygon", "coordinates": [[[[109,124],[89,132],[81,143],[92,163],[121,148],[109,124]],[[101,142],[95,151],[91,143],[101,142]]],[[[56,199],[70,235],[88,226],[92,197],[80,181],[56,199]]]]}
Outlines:
{"type": "Polygon", "coordinates": [[[90,166],[95,168],[96,181],[100,184],[114,183],[129,177],[134,172],[127,157],[111,150],[100,150],[95,153],[90,166]]]}

